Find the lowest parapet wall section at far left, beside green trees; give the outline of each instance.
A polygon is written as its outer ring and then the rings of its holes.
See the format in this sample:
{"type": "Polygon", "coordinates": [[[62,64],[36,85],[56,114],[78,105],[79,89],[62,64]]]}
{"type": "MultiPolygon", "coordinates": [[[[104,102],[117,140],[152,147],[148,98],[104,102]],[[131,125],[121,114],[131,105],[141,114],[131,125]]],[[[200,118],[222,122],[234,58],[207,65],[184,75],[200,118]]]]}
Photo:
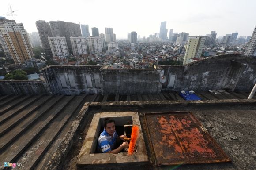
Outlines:
{"type": "Polygon", "coordinates": [[[0,94],[52,94],[44,80],[0,80],[0,94]]]}

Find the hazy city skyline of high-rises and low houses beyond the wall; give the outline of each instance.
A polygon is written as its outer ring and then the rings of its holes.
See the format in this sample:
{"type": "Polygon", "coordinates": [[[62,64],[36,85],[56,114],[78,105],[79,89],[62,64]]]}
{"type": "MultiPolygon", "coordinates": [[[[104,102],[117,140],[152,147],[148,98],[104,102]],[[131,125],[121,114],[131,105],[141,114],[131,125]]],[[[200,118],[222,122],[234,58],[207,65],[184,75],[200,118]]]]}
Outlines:
{"type": "MultiPolygon", "coordinates": [[[[217,54],[246,54],[256,56],[256,33],[252,37],[239,37],[238,33],[216,38],[211,31],[206,36],[189,36],[189,33],[173,33],[161,22],[160,33],[140,38],[135,31],[128,33],[127,40],[116,40],[112,28],[105,34],[98,28],[72,22],[39,20],[38,36],[45,56],[60,65],[105,65],[109,68],[147,69],[159,64],[188,64],[217,54]],[[247,49],[247,51],[245,51],[247,49]],[[74,58],[74,59],[72,59],[74,58]]],[[[0,18],[0,50],[15,64],[40,69],[45,61],[35,60],[32,47],[38,37],[26,33],[22,23],[0,18]],[[32,41],[33,39],[33,41],[32,41]]]]}

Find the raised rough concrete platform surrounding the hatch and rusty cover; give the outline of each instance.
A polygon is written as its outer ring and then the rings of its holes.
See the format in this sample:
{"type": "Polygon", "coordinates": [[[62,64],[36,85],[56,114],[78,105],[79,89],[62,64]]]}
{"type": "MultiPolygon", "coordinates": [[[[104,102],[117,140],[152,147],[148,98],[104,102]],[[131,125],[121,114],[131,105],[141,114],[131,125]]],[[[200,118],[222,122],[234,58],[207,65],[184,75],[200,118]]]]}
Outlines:
{"type": "MultiPolygon", "coordinates": [[[[154,152],[149,146],[149,137],[146,134],[144,113],[191,111],[196,118],[209,131],[221,148],[232,160],[232,163],[211,163],[182,165],[178,169],[254,169],[256,167],[256,154],[254,141],[256,139],[256,100],[216,100],[216,101],[136,101],[136,102],[94,102],[90,104],[87,115],[91,122],[96,112],[138,112],[150,163],[154,165],[154,152]],[[92,113],[92,114],[91,114],[92,113]]],[[[87,134],[89,126],[83,131],[87,134]]],[[[82,147],[79,140],[75,141],[69,152],[66,164],[60,169],[77,169],[76,161],[82,147]],[[79,146],[80,147],[79,147],[79,146]]],[[[136,169],[171,169],[173,166],[154,167],[153,165],[136,166],[136,169]]],[[[102,166],[104,169],[130,170],[131,166],[124,167],[102,166]]]]}

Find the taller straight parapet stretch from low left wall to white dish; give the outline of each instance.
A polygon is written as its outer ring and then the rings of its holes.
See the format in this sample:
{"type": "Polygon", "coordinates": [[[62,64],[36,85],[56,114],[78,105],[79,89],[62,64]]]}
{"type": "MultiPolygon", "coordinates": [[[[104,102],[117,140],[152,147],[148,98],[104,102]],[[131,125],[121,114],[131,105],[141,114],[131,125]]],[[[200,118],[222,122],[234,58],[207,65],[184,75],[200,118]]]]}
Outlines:
{"type": "Polygon", "coordinates": [[[101,66],[49,66],[43,69],[53,94],[157,94],[155,69],[101,69],[101,66]]]}

